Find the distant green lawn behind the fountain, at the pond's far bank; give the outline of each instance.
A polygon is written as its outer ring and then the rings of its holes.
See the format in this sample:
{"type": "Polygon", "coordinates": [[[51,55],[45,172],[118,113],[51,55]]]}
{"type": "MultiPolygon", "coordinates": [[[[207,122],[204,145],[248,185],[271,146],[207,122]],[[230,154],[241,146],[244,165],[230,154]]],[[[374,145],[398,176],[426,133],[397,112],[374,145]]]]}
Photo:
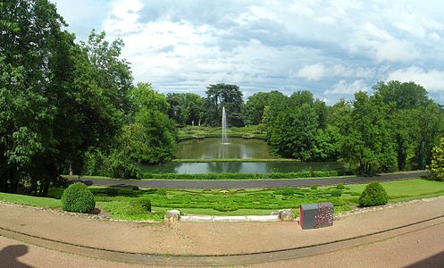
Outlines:
{"type": "MultiPolygon", "coordinates": [[[[247,138],[265,138],[265,133],[258,126],[230,127],[227,130],[229,136],[247,138]]],[[[186,126],[179,129],[179,139],[198,137],[221,137],[222,127],[186,126]]]]}

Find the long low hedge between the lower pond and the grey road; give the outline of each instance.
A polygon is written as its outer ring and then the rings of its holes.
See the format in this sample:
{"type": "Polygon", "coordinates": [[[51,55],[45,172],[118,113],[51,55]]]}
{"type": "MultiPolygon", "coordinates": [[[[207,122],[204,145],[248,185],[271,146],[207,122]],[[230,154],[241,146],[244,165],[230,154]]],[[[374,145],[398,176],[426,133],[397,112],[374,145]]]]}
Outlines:
{"type": "Polygon", "coordinates": [[[272,173],[144,173],[144,179],[170,179],[170,180],[254,180],[254,179],[298,179],[314,177],[336,177],[351,175],[352,172],[272,172],[272,173]]]}

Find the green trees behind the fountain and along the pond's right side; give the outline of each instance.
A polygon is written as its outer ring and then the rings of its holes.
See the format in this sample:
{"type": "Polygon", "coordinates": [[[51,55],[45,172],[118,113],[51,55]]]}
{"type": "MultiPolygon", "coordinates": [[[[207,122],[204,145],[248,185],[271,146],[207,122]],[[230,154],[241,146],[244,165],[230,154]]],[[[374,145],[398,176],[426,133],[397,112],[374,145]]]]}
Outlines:
{"type": "Polygon", "coordinates": [[[444,134],[443,107],[414,82],[379,82],[372,95],[359,91],[353,100],[331,106],[307,90],[290,96],[258,92],[244,104],[239,87],[227,84],[210,85],[205,97],[166,98],[174,111],[170,118],[180,126],[191,121],[220,126],[225,106],[230,126],[257,125],[276,154],[345,161],[358,173],[423,169],[444,134]]]}

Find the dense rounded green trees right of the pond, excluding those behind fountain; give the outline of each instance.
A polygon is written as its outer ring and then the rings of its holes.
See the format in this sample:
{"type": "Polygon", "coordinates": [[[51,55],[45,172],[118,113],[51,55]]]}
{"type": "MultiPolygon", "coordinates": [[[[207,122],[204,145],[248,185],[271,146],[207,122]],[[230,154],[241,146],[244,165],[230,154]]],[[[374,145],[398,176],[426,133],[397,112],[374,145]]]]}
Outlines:
{"type": "Polygon", "coordinates": [[[413,82],[381,82],[373,90],[331,107],[308,91],[275,99],[264,108],[267,139],[284,157],[342,159],[359,173],[423,169],[444,134],[442,107],[413,82]]]}

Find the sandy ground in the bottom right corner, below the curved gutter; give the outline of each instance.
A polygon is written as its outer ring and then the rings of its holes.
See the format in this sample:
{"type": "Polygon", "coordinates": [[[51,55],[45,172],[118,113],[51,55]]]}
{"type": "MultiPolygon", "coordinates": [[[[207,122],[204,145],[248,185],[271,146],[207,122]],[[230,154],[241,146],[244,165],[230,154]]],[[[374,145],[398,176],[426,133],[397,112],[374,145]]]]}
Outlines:
{"type": "Polygon", "coordinates": [[[444,267],[444,224],[360,247],[255,267],[444,267]]]}

